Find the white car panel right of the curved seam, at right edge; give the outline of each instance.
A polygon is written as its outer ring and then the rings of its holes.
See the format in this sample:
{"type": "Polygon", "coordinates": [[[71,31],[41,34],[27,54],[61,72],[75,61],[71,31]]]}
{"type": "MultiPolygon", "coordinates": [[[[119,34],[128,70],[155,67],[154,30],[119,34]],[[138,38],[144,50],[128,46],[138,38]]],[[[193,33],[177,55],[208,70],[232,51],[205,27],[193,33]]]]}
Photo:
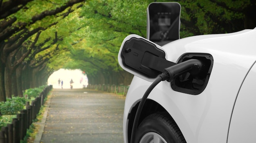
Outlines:
{"type": "Polygon", "coordinates": [[[256,141],[256,64],[249,71],[239,91],[231,117],[228,143],[256,141]]]}

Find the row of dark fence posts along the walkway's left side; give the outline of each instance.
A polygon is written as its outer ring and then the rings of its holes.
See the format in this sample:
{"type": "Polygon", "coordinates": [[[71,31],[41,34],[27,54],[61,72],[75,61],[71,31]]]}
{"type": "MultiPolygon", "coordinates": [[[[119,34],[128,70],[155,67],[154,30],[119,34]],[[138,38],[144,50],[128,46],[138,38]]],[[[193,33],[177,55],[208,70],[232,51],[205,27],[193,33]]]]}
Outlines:
{"type": "Polygon", "coordinates": [[[52,85],[45,87],[38,97],[31,102],[26,103],[26,109],[21,110],[20,114],[17,114],[17,118],[12,119],[11,124],[2,127],[0,131],[0,143],[20,143],[24,139],[33,120],[36,119],[36,115],[39,113],[43,101],[46,98],[49,91],[52,90],[52,85]]]}

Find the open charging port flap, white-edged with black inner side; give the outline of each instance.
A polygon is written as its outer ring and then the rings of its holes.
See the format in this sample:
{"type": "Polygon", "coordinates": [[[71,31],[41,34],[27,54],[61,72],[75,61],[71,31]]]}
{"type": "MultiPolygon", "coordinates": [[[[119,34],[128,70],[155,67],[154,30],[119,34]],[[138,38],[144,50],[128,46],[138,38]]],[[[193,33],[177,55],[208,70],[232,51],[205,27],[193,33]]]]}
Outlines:
{"type": "Polygon", "coordinates": [[[139,36],[127,36],[119,50],[119,65],[127,72],[154,81],[166,67],[175,65],[166,60],[164,49],[139,36]]]}

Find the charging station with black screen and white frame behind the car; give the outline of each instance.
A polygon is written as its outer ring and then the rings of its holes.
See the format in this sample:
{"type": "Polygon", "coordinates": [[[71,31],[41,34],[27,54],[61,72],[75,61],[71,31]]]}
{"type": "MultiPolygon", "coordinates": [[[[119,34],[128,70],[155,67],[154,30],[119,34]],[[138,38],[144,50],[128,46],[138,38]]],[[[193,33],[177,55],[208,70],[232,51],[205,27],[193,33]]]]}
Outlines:
{"type": "Polygon", "coordinates": [[[180,39],[180,9],[177,2],[151,3],[147,10],[147,39],[158,45],[180,39]]]}

